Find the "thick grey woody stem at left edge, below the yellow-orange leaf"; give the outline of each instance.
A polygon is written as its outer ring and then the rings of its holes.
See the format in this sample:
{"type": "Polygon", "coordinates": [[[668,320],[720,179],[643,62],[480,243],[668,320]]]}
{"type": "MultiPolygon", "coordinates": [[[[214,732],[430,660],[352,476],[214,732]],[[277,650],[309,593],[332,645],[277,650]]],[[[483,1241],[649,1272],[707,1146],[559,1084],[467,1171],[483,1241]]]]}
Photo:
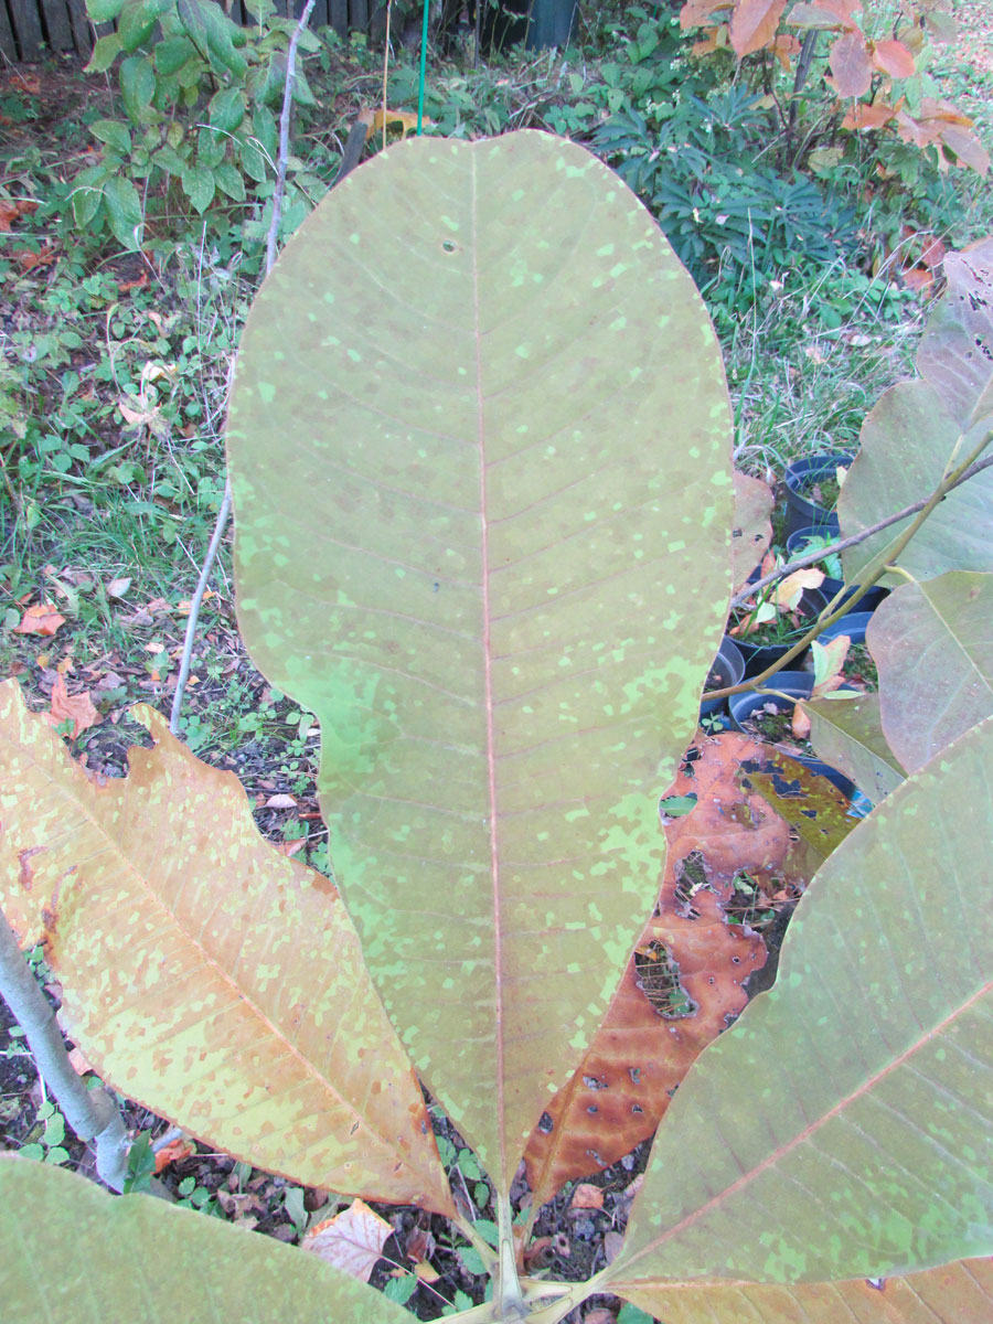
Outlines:
{"type": "Polygon", "coordinates": [[[81,1140],[93,1140],[97,1176],[111,1190],[123,1190],[127,1176],[127,1132],[113,1096],[102,1086],[87,1090],[65,1049],[48,998],[28,969],[13,929],[0,912],[0,994],[24,1030],[32,1057],[69,1125],[81,1140]]]}

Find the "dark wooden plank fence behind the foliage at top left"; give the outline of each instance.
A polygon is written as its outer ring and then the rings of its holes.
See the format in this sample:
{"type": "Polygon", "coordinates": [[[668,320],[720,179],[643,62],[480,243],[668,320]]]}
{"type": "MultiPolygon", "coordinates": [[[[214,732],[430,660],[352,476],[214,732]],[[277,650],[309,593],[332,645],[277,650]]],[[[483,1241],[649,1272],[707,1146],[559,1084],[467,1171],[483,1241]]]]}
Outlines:
{"type": "MultiPolygon", "coordinates": [[[[297,17],[302,0],[275,0],[282,15],[297,17]]],[[[368,32],[369,20],[381,0],[316,0],[311,26],[331,26],[344,36],[350,30],[368,32]]],[[[250,25],[254,19],[242,0],[232,0],[230,16],[250,25]]],[[[109,32],[110,25],[101,32],[109,32]]],[[[86,17],[85,0],[0,0],[0,50],[7,60],[42,60],[53,53],[89,57],[94,29],[86,17]]]]}

